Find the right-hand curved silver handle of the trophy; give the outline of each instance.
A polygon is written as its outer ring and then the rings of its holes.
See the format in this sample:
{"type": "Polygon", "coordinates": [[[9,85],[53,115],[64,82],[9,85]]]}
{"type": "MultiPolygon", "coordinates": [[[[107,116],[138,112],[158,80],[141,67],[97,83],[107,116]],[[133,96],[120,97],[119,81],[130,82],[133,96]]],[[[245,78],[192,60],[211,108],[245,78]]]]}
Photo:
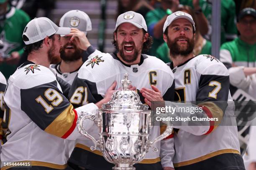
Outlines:
{"type": "MultiPolygon", "coordinates": [[[[147,141],[146,147],[147,150],[152,147],[152,150],[154,152],[157,152],[158,149],[156,147],[154,147],[154,145],[156,144],[156,142],[163,140],[164,138],[168,137],[169,135],[172,134],[172,130],[173,130],[173,125],[171,122],[166,122],[167,126],[166,126],[166,130],[164,131],[164,133],[162,133],[159,137],[157,137],[156,139],[154,139],[152,142],[151,141],[147,141]]],[[[151,123],[150,123],[151,124],[151,123]]]]}

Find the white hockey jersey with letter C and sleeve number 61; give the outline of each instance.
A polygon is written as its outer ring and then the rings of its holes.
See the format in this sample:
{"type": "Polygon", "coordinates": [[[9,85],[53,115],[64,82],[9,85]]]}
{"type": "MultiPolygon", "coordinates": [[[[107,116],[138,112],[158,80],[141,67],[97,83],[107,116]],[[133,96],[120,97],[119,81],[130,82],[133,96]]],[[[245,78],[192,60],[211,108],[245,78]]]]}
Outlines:
{"type": "MultiPolygon", "coordinates": [[[[85,105],[90,102],[98,102],[106,91],[112,85],[114,80],[117,81],[116,89],[122,87],[120,80],[123,79],[125,72],[128,73],[128,79],[131,80],[133,86],[137,88],[137,92],[144,102],[144,98],[139,92],[142,87],[150,88],[151,85],[156,85],[159,88],[165,100],[174,100],[174,78],[172,70],[156,57],[141,55],[141,61],[137,65],[126,65],[120,61],[116,54],[102,53],[95,50],[86,62],[78,71],[72,87],[69,91],[69,101],[76,106],[85,105]]],[[[88,132],[98,138],[99,130],[96,125],[88,132]]],[[[150,139],[153,140],[160,135],[159,126],[154,126],[150,131],[150,139]]],[[[171,138],[163,140],[162,143],[172,143],[171,138]]],[[[92,146],[91,140],[77,140],[76,148],[74,149],[69,161],[85,168],[93,168],[97,170],[110,170],[113,164],[108,163],[101,155],[100,151],[90,150],[92,146]],[[85,160],[84,160],[85,159],[85,160]],[[99,161],[102,161],[99,164],[99,161]]],[[[164,144],[163,144],[164,145],[164,144]]],[[[148,164],[148,168],[154,168],[153,163],[160,164],[160,142],[156,144],[159,148],[158,152],[149,150],[145,159],[141,163],[148,164]],[[151,167],[150,167],[151,165],[151,167]]],[[[173,153],[168,152],[166,144],[166,152],[162,157],[162,165],[172,166],[171,156],[173,153]]],[[[158,166],[159,166],[158,165],[158,166]]],[[[136,165],[135,165],[136,167],[136,165]]],[[[145,167],[136,167],[137,169],[146,169],[145,167]]],[[[158,167],[159,168],[159,167],[158,167]]]]}

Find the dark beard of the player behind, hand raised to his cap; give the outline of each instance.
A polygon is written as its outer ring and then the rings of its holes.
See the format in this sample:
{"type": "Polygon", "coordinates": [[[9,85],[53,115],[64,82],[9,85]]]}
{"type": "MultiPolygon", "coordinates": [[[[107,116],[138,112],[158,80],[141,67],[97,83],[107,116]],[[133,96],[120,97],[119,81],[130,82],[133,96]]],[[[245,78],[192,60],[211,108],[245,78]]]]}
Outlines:
{"type": "Polygon", "coordinates": [[[74,52],[65,52],[66,47],[70,44],[66,44],[60,51],[60,57],[64,61],[76,61],[82,58],[83,50],[77,48],[76,45],[72,45],[74,48],[74,52]]]}

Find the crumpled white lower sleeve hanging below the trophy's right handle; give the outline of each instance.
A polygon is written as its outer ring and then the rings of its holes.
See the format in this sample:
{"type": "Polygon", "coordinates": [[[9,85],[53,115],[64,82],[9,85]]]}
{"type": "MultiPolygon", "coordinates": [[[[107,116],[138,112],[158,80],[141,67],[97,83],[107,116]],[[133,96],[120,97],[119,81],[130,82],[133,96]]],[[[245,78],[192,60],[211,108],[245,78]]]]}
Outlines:
{"type": "Polygon", "coordinates": [[[160,147],[160,158],[162,167],[172,167],[172,159],[174,158],[175,150],[174,150],[174,138],[161,140],[160,147]]]}

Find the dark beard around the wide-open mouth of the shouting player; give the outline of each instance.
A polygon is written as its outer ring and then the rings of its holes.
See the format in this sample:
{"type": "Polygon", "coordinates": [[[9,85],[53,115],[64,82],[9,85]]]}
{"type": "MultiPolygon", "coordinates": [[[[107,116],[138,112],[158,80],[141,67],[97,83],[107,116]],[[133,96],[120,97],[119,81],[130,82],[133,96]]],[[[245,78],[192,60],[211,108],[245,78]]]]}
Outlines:
{"type": "MultiPolygon", "coordinates": [[[[117,41],[117,44],[119,44],[118,43],[118,41],[117,41]]],[[[133,41],[131,41],[131,42],[122,42],[121,43],[121,47],[119,47],[119,45],[117,45],[117,47],[118,47],[118,51],[119,51],[119,53],[120,53],[120,56],[121,56],[121,58],[122,58],[122,60],[123,61],[125,61],[125,62],[134,62],[134,61],[136,61],[137,60],[137,58],[138,58],[138,54],[139,54],[139,52],[141,52],[141,49],[142,49],[142,47],[143,47],[143,40],[141,40],[141,43],[139,43],[139,44],[141,44],[141,46],[140,47],[136,47],[135,46],[135,44],[134,44],[134,42],[133,41]],[[124,45],[125,44],[127,44],[127,43],[129,43],[129,44],[131,44],[131,45],[133,45],[133,47],[134,47],[134,53],[133,53],[133,55],[125,55],[124,54],[124,45]],[[121,49],[120,49],[121,48],[121,49]]]]}

